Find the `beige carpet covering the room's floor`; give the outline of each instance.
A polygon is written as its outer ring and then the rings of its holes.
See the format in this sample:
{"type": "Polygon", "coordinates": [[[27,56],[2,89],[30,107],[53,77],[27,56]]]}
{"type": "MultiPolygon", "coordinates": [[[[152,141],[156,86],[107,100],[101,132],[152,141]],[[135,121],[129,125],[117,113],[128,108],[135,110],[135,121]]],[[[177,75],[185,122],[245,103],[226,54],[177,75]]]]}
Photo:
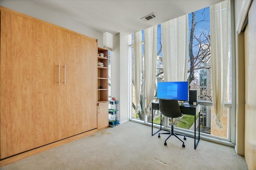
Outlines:
{"type": "Polygon", "coordinates": [[[187,138],[151,136],[151,127],[129,121],[3,166],[0,170],[247,170],[234,148],[187,138]]]}

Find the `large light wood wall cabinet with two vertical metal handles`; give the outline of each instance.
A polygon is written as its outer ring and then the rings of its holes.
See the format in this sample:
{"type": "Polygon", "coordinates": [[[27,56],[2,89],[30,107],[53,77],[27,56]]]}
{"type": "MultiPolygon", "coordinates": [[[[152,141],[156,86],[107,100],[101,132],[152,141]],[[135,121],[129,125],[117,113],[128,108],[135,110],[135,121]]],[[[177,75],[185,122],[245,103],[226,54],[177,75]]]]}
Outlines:
{"type": "Polygon", "coordinates": [[[0,159],[96,129],[96,39],[0,9],[0,159]]]}

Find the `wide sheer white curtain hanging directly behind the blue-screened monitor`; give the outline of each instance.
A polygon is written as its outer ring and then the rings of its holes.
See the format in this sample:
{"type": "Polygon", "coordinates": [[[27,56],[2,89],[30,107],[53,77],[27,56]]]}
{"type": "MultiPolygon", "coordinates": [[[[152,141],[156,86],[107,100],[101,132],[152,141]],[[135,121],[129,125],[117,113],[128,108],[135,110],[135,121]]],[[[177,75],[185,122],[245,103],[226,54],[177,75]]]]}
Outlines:
{"type": "Polygon", "coordinates": [[[188,15],[162,23],[164,81],[188,77],[188,15]]]}

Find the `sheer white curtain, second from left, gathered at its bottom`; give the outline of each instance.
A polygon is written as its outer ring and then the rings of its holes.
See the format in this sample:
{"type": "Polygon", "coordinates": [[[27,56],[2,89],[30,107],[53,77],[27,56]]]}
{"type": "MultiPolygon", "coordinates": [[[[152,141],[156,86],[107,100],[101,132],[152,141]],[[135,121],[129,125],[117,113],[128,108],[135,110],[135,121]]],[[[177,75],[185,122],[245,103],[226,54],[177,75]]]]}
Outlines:
{"type": "Polygon", "coordinates": [[[154,100],[156,84],[156,46],[157,25],[144,31],[144,80],[146,86],[146,104],[144,111],[150,113],[150,107],[154,100]]]}

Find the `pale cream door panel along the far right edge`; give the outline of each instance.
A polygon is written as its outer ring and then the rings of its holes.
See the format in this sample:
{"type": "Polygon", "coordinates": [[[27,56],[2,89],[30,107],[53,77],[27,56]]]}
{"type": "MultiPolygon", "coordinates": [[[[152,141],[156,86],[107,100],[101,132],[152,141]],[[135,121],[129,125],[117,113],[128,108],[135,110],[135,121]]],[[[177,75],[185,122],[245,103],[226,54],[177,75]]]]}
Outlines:
{"type": "Polygon", "coordinates": [[[244,157],[249,170],[256,170],[256,0],[248,12],[248,25],[244,31],[245,128],[244,157]]]}

